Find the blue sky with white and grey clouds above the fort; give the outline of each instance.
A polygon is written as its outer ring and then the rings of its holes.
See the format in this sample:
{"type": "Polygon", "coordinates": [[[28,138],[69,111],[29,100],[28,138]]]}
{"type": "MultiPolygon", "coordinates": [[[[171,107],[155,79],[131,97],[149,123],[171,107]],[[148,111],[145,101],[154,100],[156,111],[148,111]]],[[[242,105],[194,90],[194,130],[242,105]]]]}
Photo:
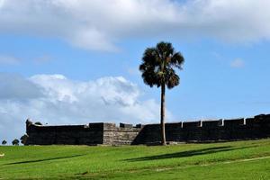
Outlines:
{"type": "Polygon", "coordinates": [[[184,56],[166,121],[270,112],[268,0],[0,0],[0,140],[25,121],[158,123],[144,50],[184,56]]]}

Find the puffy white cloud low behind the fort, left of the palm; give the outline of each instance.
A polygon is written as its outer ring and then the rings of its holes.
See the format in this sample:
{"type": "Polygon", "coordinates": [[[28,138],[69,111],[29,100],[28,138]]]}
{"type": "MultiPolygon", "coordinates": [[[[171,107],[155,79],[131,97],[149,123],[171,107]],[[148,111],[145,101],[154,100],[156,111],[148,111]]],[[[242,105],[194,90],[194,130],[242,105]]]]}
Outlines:
{"type": "Polygon", "coordinates": [[[159,103],[140,96],[139,87],[122,76],[86,82],[63,75],[0,74],[0,139],[20,138],[28,117],[49,124],[158,122],[159,103]]]}

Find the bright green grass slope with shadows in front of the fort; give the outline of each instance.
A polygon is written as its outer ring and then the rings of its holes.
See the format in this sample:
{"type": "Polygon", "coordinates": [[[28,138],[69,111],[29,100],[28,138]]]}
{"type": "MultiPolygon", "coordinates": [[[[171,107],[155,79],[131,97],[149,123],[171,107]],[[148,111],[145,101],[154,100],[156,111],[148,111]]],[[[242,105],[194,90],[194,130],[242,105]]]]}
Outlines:
{"type": "Polygon", "coordinates": [[[270,139],[166,147],[0,147],[0,179],[270,179],[270,139]]]}

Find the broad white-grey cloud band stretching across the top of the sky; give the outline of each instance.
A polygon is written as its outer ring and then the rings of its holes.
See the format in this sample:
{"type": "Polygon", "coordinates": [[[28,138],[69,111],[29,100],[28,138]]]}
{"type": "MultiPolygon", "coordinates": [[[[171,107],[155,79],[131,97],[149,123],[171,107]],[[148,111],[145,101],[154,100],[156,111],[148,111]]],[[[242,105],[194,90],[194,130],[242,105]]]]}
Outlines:
{"type": "Polygon", "coordinates": [[[268,0],[0,0],[0,31],[117,50],[128,38],[270,39],[268,0]]]}

